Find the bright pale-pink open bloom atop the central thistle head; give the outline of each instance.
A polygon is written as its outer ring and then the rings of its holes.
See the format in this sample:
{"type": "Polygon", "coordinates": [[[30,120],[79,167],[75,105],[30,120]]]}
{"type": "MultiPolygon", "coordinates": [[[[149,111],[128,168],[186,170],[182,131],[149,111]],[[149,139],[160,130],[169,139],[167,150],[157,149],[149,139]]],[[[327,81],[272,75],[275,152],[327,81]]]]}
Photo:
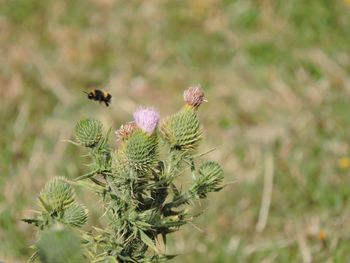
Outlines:
{"type": "Polygon", "coordinates": [[[159,113],[153,108],[147,107],[138,108],[134,114],[136,125],[144,132],[152,134],[159,122],[159,113]]]}

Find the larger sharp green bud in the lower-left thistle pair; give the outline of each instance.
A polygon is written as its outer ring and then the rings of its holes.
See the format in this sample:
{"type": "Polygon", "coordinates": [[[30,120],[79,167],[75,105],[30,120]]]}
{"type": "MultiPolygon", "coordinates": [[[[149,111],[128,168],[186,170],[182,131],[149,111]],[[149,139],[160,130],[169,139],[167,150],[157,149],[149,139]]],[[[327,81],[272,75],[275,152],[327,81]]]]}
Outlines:
{"type": "Polygon", "coordinates": [[[64,177],[55,177],[40,192],[39,200],[46,210],[60,211],[74,202],[74,191],[64,177]]]}

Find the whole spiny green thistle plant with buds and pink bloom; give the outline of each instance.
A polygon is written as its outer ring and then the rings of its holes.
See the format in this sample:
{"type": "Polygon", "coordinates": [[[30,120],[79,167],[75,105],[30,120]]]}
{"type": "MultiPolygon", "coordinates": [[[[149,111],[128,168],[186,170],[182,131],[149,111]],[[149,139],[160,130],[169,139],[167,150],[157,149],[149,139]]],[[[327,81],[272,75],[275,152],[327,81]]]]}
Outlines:
{"type": "Polygon", "coordinates": [[[193,220],[190,208],[196,201],[224,186],[221,166],[198,160],[202,130],[197,113],[204,93],[190,87],[184,101],[162,121],[154,108],[138,108],[133,121],[115,132],[117,146],[108,144],[110,132],[103,134],[100,121],[76,124],[75,144],[86,149],[91,170],[74,181],[55,177],[40,192],[40,211],[24,219],[40,232],[32,261],[128,263],[174,257],[160,244],[193,220]],[[187,189],[181,185],[185,176],[191,180],[187,189]],[[72,185],[97,193],[106,222],[102,228],[81,228],[87,209],[76,202],[72,185]]]}

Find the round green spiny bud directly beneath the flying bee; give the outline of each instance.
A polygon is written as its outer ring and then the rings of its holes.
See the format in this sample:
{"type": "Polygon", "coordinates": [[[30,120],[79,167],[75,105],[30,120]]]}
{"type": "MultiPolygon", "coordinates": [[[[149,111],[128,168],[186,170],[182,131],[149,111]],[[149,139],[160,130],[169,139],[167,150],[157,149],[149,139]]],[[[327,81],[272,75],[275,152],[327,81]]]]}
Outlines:
{"type": "Polygon", "coordinates": [[[75,126],[75,138],[85,147],[94,147],[102,137],[102,123],[95,119],[81,120],[75,126]]]}

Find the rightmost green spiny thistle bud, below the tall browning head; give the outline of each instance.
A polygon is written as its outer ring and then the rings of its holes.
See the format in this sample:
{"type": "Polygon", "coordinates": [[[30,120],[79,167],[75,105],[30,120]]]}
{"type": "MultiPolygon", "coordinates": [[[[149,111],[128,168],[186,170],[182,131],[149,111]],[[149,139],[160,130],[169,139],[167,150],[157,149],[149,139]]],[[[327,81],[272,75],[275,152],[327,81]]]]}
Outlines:
{"type": "Polygon", "coordinates": [[[199,176],[196,178],[192,191],[199,198],[206,198],[210,192],[220,191],[223,186],[224,171],[214,161],[209,161],[199,167],[199,176]]]}

